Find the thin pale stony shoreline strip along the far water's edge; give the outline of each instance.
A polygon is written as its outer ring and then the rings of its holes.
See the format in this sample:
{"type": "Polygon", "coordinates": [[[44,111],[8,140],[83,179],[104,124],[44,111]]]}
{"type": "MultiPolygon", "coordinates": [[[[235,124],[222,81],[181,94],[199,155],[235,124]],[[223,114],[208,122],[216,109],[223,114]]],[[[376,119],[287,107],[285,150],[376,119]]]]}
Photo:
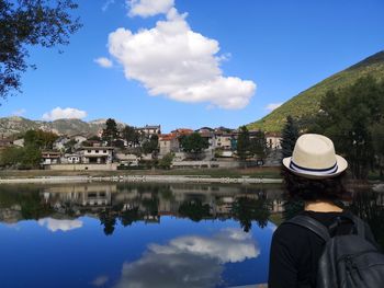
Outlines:
{"type": "Polygon", "coordinates": [[[0,178],[0,184],[65,184],[89,182],[125,183],[219,183],[219,184],[281,184],[282,178],[269,177],[211,177],[196,175],[118,175],[118,176],[39,176],[0,178]]]}

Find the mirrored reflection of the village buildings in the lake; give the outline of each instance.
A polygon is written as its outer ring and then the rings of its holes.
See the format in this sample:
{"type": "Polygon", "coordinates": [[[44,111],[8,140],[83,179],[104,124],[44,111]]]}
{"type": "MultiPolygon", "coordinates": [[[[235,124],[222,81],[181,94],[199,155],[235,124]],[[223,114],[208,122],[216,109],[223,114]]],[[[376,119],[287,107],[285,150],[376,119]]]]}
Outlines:
{"type": "Polygon", "coordinates": [[[124,212],[138,209],[142,220],[158,222],[161,216],[180,217],[185,203],[210,207],[205,218],[230,218],[234,203],[240,197],[268,201],[271,212],[282,211],[282,191],[264,187],[207,186],[207,185],[120,185],[76,184],[52,186],[42,196],[57,212],[68,208],[75,214],[97,214],[101,210],[124,212]]]}

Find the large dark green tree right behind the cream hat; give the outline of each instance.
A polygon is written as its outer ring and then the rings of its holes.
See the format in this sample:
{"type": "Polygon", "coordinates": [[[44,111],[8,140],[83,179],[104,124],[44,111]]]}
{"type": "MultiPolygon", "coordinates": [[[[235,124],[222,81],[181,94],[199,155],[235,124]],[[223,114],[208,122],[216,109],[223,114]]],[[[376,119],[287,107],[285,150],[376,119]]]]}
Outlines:
{"type": "Polygon", "coordinates": [[[383,141],[379,139],[381,131],[375,128],[384,122],[383,94],[383,82],[371,77],[361,78],[350,87],[329,91],[316,115],[321,123],[320,133],[334,140],[355,178],[368,177],[375,162],[375,149],[380,150],[380,141],[383,141]]]}

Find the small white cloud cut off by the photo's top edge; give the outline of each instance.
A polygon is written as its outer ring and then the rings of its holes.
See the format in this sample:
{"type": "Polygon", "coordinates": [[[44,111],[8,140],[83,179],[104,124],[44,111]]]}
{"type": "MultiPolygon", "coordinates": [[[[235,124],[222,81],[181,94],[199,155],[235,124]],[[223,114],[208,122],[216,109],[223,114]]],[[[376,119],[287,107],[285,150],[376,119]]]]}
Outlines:
{"type": "Polygon", "coordinates": [[[167,13],[173,5],[174,0],[127,0],[129,16],[154,16],[167,13]]]}

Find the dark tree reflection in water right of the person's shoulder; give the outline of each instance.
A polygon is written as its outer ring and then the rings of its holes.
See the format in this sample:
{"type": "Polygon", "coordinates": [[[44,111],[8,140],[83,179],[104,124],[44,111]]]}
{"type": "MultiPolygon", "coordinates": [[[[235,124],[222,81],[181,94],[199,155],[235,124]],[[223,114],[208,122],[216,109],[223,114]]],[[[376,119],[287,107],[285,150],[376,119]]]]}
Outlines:
{"type": "Polygon", "coordinates": [[[351,210],[365,220],[377,243],[384,249],[384,206],[380,193],[361,191],[353,195],[351,210]]]}

